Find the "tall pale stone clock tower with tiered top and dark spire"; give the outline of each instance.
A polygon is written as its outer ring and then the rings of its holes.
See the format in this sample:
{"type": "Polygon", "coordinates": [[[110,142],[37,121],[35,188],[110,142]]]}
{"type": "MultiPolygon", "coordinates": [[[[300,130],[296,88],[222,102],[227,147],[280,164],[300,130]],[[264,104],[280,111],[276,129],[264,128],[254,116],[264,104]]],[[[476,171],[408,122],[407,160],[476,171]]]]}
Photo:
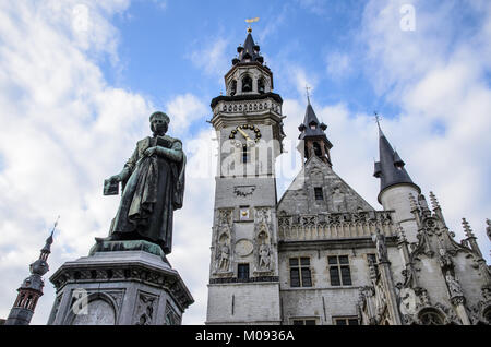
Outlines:
{"type": "Polygon", "coordinates": [[[226,95],[211,104],[219,160],[206,324],[282,321],[275,160],[285,117],[251,32],[225,75],[226,95]]]}

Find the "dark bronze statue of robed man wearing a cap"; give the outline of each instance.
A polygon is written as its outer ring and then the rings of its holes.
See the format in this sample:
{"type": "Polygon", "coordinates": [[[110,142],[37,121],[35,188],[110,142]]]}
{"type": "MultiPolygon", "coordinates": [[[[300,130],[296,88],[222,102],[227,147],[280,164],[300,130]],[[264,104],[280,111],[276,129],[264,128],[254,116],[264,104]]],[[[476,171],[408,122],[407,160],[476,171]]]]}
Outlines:
{"type": "Polygon", "coordinates": [[[147,240],[165,254],[172,249],[172,215],[182,207],[185,155],[178,139],[166,135],[169,117],[154,112],[153,136],[136,143],[122,171],[109,181],[122,182],[121,202],[109,240],[147,240]]]}

